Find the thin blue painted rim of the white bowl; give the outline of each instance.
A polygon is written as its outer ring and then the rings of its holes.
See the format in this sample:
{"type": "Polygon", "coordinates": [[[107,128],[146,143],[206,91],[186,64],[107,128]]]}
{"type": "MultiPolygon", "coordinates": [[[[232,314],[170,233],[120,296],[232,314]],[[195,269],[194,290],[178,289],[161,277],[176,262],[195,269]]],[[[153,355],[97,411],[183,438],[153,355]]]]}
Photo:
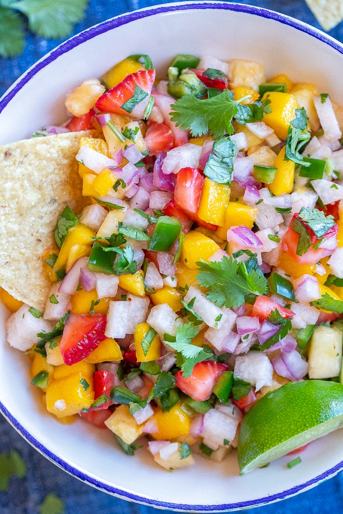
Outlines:
{"type": "MultiPolygon", "coordinates": [[[[69,39],[65,43],[58,46],[55,50],[52,50],[47,54],[43,59],[38,61],[35,65],[33,65],[20,79],[18,79],[13,86],[5,93],[5,95],[0,100],[0,113],[3,109],[8,105],[8,103],[15,97],[17,93],[27,84],[32,77],[34,77],[40,70],[45,68],[48,64],[58,59],[64,53],[68,52],[70,49],[75,48],[85,41],[91,40],[95,38],[95,36],[99,34],[103,34],[107,31],[116,29],[118,27],[124,26],[130,22],[135,20],[140,20],[147,18],[149,16],[153,16],[156,14],[167,14],[175,11],[184,11],[184,10],[203,10],[203,9],[212,9],[212,10],[229,10],[229,11],[238,11],[244,12],[255,16],[260,16],[265,19],[275,20],[282,24],[293,27],[294,29],[304,32],[313,36],[314,38],[320,40],[322,43],[330,46],[332,49],[336,50],[340,54],[343,54],[343,45],[339,42],[324,34],[320,30],[317,30],[305,23],[302,23],[298,20],[295,20],[291,17],[285,16],[283,14],[266,10],[259,7],[248,6],[245,4],[237,4],[237,3],[227,3],[227,2],[180,2],[174,4],[164,4],[160,6],[155,6],[152,8],[145,8],[137,11],[133,11],[127,14],[122,14],[114,17],[113,19],[107,20],[103,23],[100,23],[92,28],[84,30],[83,32],[75,35],[73,38],[69,39]]],[[[75,478],[92,485],[102,491],[113,494],[121,499],[134,501],[138,503],[142,503],[145,505],[154,506],[162,509],[173,509],[179,511],[196,511],[196,512],[218,512],[218,511],[228,511],[228,510],[236,510],[236,509],[244,509],[252,506],[265,505],[267,503],[271,503],[278,500],[283,500],[285,498],[291,497],[301,491],[306,489],[310,489],[311,487],[319,484],[320,482],[327,480],[337,474],[340,470],[343,469],[343,461],[339,462],[337,465],[331,467],[327,471],[316,475],[311,480],[298,484],[294,487],[287,488],[282,490],[277,494],[268,495],[266,497],[258,498],[255,500],[243,501],[238,503],[227,503],[227,504],[217,504],[217,505],[189,505],[189,504],[177,504],[177,503],[166,503],[158,500],[154,500],[151,498],[143,497],[139,494],[134,494],[128,491],[121,490],[114,486],[110,486],[106,483],[103,483],[99,480],[92,478],[91,476],[81,472],[76,467],[68,464],[61,457],[51,452],[48,448],[42,445],[39,440],[33,437],[23,426],[22,424],[9,412],[9,410],[0,402],[0,411],[7,418],[9,423],[40,453],[46,456],[51,462],[58,465],[63,470],[67,471],[69,474],[73,475],[75,478]]]]}

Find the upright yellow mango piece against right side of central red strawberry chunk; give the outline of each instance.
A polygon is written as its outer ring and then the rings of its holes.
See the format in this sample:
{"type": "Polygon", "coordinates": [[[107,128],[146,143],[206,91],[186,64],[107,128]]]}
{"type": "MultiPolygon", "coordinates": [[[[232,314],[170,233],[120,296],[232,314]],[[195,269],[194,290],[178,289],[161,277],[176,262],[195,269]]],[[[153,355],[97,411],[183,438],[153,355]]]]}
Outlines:
{"type": "Polygon", "coordinates": [[[230,188],[206,177],[201,191],[197,214],[213,225],[223,225],[225,209],[230,199],[230,188]]]}

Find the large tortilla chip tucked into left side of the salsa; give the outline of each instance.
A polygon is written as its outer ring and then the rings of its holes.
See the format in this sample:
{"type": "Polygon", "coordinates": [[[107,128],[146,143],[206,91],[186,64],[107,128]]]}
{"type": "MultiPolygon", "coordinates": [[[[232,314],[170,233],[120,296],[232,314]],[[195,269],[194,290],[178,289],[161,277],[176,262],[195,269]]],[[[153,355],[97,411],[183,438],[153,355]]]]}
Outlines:
{"type": "Polygon", "coordinates": [[[89,200],[75,156],[81,136],[68,132],[0,146],[0,285],[43,311],[51,282],[42,254],[66,205],[78,214],[89,200]]]}

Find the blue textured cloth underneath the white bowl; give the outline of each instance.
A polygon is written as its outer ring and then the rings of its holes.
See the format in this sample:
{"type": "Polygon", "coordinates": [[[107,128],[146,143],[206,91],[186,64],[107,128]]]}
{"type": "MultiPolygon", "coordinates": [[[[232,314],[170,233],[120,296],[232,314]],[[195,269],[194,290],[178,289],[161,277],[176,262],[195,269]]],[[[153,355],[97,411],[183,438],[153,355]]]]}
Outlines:
{"type": "MultiPolygon", "coordinates": [[[[56,0],[58,1],[58,0],[56,0]]],[[[112,16],[142,7],[171,3],[163,0],[90,0],[83,20],[75,25],[74,34],[112,16]]],[[[291,15],[298,20],[321,28],[304,0],[264,0],[240,2],[264,7],[291,15]]],[[[343,42],[343,23],[329,34],[343,42]]],[[[0,58],[0,96],[15,79],[62,40],[47,41],[26,34],[26,46],[21,56],[0,58]]],[[[0,492],[0,514],[39,514],[40,505],[49,493],[54,493],[64,503],[64,514],[157,514],[145,507],[118,500],[72,478],[25,442],[0,416],[0,453],[16,450],[26,463],[26,475],[12,478],[6,492],[0,492]]],[[[209,479],[210,487],[210,479],[209,479]]],[[[343,506],[343,475],[339,473],[314,489],[294,498],[272,505],[258,507],[256,514],[336,514],[343,506]]],[[[170,512],[170,511],[165,511],[170,512]]]]}

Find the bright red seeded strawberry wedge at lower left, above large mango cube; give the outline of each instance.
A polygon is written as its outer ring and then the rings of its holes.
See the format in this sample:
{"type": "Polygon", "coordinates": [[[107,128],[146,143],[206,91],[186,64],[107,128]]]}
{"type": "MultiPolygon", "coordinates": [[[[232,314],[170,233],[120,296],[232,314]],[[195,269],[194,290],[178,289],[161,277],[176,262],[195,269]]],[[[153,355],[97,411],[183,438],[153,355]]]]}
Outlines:
{"type": "Polygon", "coordinates": [[[69,314],[65,322],[60,350],[65,364],[80,362],[106,339],[106,316],[103,314],[69,314]]]}

